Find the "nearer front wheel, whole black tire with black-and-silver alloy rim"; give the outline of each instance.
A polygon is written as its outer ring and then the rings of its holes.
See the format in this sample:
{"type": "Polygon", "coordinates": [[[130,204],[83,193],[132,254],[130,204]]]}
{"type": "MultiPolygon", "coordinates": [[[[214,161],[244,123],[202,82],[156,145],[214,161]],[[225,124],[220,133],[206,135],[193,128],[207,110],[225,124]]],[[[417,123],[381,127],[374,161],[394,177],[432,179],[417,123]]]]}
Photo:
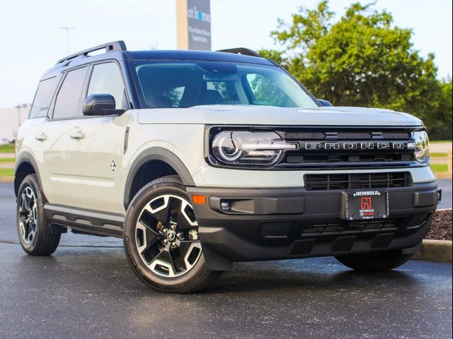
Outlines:
{"type": "Polygon", "coordinates": [[[125,252],[134,273],[159,292],[190,293],[214,283],[223,272],[207,268],[197,228],[179,177],[144,186],[125,218],[125,252]]]}

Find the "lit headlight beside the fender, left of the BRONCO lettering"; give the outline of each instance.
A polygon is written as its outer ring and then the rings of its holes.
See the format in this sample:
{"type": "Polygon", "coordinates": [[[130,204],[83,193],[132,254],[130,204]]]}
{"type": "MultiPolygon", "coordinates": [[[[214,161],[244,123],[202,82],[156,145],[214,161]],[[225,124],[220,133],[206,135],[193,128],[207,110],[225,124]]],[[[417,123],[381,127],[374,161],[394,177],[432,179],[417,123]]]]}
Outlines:
{"type": "Polygon", "coordinates": [[[212,139],[212,155],[225,165],[275,165],[297,147],[273,131],[220,131],[212,139]]]}

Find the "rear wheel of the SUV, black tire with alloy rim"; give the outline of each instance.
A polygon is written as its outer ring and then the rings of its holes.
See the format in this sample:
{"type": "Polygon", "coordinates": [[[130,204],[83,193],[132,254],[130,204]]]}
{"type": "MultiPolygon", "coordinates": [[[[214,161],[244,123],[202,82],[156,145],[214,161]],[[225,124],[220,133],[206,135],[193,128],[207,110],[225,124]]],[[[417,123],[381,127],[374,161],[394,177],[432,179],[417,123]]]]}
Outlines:
{"type": "Polygon", "coordinates": [[[28,175],[18,190],[16,225],[21,246],[30,256],[50,256],[59,244],[61,234],[50,232],[44,204],[36,174],[28,175]]]}

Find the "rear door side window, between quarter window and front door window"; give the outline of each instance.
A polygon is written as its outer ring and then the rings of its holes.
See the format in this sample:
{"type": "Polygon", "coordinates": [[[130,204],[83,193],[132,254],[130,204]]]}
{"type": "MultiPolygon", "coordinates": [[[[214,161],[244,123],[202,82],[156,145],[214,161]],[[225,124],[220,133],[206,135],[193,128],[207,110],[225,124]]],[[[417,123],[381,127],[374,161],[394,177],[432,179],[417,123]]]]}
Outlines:
{"type": "Polygon", "coordinates": [[[69,71],[64,77],[55,101],[54,119],[79,117],[81,113],[81,95],[84,88],[88,67],[69,71]]]}

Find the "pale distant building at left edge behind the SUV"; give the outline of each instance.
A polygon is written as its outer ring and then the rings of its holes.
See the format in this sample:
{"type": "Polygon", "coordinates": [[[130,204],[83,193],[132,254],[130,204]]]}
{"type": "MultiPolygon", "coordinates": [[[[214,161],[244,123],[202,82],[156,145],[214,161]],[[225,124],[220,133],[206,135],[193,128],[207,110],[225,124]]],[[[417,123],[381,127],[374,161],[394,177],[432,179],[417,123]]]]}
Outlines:
{"type": "Polygon", "coordinates": [[[30,105],[17,105],[13,108],[0,108],[0,144],[16,138],[17,130],[28,118],[30,105]]]}

